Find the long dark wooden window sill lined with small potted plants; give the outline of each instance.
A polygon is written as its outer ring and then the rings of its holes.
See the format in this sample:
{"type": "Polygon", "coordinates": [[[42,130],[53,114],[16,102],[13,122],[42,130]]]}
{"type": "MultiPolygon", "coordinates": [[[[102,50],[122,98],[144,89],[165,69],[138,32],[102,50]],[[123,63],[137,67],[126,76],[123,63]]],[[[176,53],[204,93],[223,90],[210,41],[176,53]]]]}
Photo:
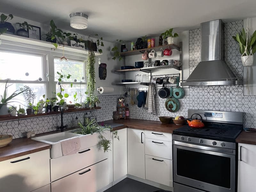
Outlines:
{"type": "MultiPolygon", "coordinates": [[[[95,108],[80,108],[80,109],[72,109],[72,110],[64,110],[64,113],[76,113],[76,112],[83,112],[83,111],[93,111],[101,109],[101,107],[95,107],[95,108]]],[[[60,114],[60,111],[52,111],[48,113],[38,113],[38,114],[31,114],[31,115],[20,115],[20,116],[9,116],[9,117],[1,117],[1,121],[10,121],[10,120],[16,120],[16,119],[25,119],[25,118],[36,118],[41,116],[51,116],[51,115],[58,115],[60,114]]]]}

